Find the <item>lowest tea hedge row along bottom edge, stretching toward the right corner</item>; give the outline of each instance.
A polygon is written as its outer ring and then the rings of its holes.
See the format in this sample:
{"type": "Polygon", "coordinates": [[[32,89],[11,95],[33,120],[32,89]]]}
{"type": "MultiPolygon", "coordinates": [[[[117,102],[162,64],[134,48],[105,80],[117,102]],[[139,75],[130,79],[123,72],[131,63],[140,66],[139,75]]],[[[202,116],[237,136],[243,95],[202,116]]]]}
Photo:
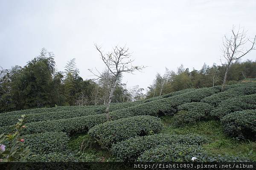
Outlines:
{"type": "Polygon", "coordinates": [[[179,145],[171,144],[159,146],[146,150],[137,161],[143,162],[191,162],[192,157],[196,157],[197,162],[226,161],[226,162],[247,162],[250,161],[244,157],[235,156],[214,156],[205,153],[202,147],[198,145],[179,145]]]}

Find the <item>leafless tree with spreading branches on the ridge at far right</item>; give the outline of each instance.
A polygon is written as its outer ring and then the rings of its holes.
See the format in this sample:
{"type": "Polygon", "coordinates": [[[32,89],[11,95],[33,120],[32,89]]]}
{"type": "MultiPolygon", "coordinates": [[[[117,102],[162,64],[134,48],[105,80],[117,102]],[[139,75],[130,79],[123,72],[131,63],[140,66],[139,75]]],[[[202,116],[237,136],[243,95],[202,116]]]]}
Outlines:
{"type": "Polygon", "coordinates": [[[227,68],[223,79],[222,89],[225,88],[227,73],[232,61],[242,58],[244,55],[255,49],[256,35],[250,40],[250,38],[246,37],[246,32],[247,31],[244,31],[244,28],[241,27],[239,27],[238,31],[235,31],[235,26],[233,26],[231,36],[227,37],[225,35],[223,38],[222,52],[223,57],[227,61],[227,68]],[[246,48],[247,43],[250,43],[249,49],[246,48]]]}

